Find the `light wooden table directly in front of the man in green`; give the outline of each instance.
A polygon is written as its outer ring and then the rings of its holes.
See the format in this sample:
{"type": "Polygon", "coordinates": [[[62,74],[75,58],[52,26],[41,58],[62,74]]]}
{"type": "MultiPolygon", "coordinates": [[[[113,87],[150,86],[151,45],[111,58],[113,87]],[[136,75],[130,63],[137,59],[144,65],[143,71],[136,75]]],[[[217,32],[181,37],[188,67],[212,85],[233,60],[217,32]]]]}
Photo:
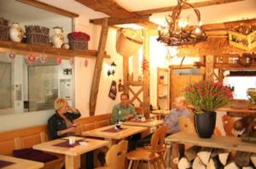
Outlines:
{"type": "Polygon", "coordinates": [[[112,129],[114,125],[108,127],[96,128],[87,132],[83,132],[83,136],[92,136],[97,138],[105,138],[109,141],[109,147],[115,144],[117,140],[128,138],[131,135],[137,134],[139,132],[145,132],[148,127],[134,127],[134,126],[123,126],[123,129],[119,132],[106,132],[105,130],[112,129]]]}

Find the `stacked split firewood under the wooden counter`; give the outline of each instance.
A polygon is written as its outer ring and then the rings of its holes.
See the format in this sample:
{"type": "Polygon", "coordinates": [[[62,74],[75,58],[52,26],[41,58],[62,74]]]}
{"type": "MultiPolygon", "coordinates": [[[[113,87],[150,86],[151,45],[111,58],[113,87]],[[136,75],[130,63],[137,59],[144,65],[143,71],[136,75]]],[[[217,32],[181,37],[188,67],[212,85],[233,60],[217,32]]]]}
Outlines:
{"type": "Polygon", "coordinates": [[[256,167],[256,154],[225,149],[192,146],[184,151],[177,162],[179,169],[253,169],[256,167]]]}

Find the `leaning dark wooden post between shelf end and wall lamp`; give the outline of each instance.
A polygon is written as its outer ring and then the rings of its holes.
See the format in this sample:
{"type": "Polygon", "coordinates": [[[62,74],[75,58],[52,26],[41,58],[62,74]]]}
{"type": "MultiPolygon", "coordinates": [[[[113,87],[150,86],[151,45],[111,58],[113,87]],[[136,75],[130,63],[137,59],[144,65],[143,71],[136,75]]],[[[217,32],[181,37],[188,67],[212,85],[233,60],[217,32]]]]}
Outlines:
{"type": "Polygon", "coordinates": [[[107,42],[107,37],[108,37],[108,19],[105,18],[102,21],[102,32],[101,32],[101,37],[100,37],[99,46],[98,46],[92,84],[90,87],[90,116],[93,116],[96,110],[96,101],[97,101],[97,95],[99,90],[99,83],[100,83],[101,72],[102,72],[102,62],[103,62],[103,56],[104,56],[105,46],[107,42]]]}

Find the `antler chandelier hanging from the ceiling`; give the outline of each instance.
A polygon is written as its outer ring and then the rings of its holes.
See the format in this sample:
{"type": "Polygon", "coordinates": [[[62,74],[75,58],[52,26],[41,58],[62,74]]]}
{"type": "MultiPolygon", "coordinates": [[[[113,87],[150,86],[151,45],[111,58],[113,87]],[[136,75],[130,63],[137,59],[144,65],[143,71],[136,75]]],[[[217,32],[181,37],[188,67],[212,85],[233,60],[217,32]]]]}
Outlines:
{"type": "Polygon", "coordinates": [[[189,45],[207,40],[206,33],[201,29],[200,11],[186,0],[177,0],[177,6],[173,9],[172,15],[166,17],[166,23],[166,27],[158,29],[157,41],[164,42],[167,46],[189,45]],[[198,25],[189,26],[187,21],[180,20],[180,14],[187,6],[195,12],[198,25]]]}

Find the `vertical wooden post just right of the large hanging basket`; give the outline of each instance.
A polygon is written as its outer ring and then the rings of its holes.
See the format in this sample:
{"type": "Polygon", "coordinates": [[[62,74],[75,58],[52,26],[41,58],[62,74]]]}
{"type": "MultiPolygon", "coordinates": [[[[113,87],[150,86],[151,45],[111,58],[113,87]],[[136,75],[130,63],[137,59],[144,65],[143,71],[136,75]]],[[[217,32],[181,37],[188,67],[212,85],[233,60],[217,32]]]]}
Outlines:
{"type": "Polygon", "coordinates": [[[148,119],[150,116],[150,99],[149,99],[149,42],[150,42],[150,35],[149,29],[144,28],[143,30],[143,61],[146,63],[146,67],[143,71],[143,111],[145,117],[148,119]]]}

